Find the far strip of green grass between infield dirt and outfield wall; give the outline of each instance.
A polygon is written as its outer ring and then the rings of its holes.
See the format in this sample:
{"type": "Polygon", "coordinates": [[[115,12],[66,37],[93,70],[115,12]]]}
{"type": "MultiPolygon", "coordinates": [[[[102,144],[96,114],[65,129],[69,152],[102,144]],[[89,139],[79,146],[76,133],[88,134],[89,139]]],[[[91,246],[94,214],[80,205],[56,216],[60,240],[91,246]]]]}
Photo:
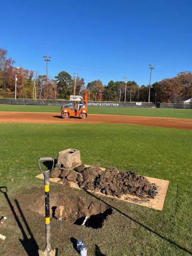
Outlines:
{"type": "MultiPolygon", "coordinates": [[[[0,111],[60,112],[60,106],[0,105],[0,111]]],[[[192,118],[192,110],[88,107],[89,114],[192,118]]]]}

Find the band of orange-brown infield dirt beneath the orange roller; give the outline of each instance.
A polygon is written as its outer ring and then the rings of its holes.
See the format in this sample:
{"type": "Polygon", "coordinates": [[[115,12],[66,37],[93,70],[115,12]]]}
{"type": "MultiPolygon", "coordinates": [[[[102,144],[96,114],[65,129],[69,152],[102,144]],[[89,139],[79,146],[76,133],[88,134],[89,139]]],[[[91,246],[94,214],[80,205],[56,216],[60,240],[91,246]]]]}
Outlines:
{"type": "Polygon", "coordinates": [[[0,112],[1,123],[122,123],[192,130],[192,119],[89,114],[87,119],[62,119],[59,113],[0,112]]]}

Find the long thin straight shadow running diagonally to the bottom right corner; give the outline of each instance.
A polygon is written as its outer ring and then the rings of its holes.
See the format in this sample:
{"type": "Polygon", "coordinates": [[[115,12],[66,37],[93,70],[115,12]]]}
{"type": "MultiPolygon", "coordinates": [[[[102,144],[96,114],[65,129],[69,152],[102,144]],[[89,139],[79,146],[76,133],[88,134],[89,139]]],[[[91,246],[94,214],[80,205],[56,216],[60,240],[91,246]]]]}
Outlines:
{"type": "MultiPolygon", "coordinates": [[[[170,239],[168,239],[168,238],[163,237],[161,234],[159,234],[159,233],[157,233],[156,231],[152,230],[151,228],[145,226],[145,225],[142,224],[141,222],[139,222],[139,221],[133,219],[131,216],[125,214],[124,212],[122,212],[122,211],[119,210],[118,208],[116,208],[116,207],[114,207],[113,205],[111,205],[111,204],[105,202],[104,200],[102,200],[101,198],[95,196],[95,195],[92,194],[91,192],[89,192],[89,191],[87,191],[87,190],[85,190],[85,189],[84,189],[84,191],[86,191],[86,193],[88,193],[90,196],[96,198],[97,200],[103,202],[103,203],[106,204],[107,206],[109,206],[109,207],[113,208],[114,210],[118,211],[120,214],[122,214],[122,215],[125,216],[126,218],[129,218],[129,219],[132,220],[133,222],[139,224],[141,227],[145,228],[146,230],[148,230],[148,231],[150,231],[150,232],[156,234],[156,236],[158,236],[159,238],[163,239],[164,241],[166,241],[166,242],[168,242],[168,243],[170,243],[170,244],[176,246],[177,248],[179,248],[179,249],[181,249],[181,250],[183,250],[183,251],[189,253],[190,255],[192,255],[192,252],[189,251],[189,250],[187,250],[186,248],[184,248],[184,247],[182,247],[182,246],[176,244],[174,241],[172,241],[172,240],[170,240],[170,239]]],[[[99,254],[98,254],[98,255],[99,255],[99,254]]],[[[101,255],[102,255],[102,254],[101,254],[101,255]]]]}

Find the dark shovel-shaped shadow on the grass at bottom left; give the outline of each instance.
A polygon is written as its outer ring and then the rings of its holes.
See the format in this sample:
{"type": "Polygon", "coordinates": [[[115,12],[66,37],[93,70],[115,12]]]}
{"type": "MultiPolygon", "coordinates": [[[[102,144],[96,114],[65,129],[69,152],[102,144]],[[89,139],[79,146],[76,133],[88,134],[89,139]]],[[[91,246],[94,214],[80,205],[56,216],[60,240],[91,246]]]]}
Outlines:
{"type": "Polygon", "coordinates": [[[32,232],[31,232],[31,229],[30,229],[30,227],[29,227],[29,225],[28,225],[28,223],[27,223],[27,220],[26,220],[26,218],[25,218],[25,216],[24,216],[24,214],[23,214],[22,209],[20,208],[20,205],[19,205],[18,201],[17,201],[17,200],[14,200],[15,203],[16,203],[17,209],[18,209],[18,211],[19,211],[19,214],[20,214],[20,216],[22,217],[23,222],[25,223],[26,229],[27,229],[27,231],[28,231],[28,233],[29,233],[29,238],[28,238],[28,236],[27,236],[27,233],[26,233],[26,231],[25,231],[25,229],[24,229],[22,223],[20,222],[20,220],[19,220],[19,218],[18,218],[18,216],[17,216],[17,214],[16,214],[16,212],[15,212],[15,210],[14,210],[14,206],[12,205],[12,203],[11,203],[9,197],[8,197],[8,194],[7,194],[7,187],[5,187],[5,186],[4,186],[4,187],[0,187],[0,191],[4,194],[4,196],[5,196],[5,198],[6,198],[7,202],[8,202],[8,204],[9,204],[9,206],[10,206],[10,209],[11,209],[11,211],[12,211],[12,214],[13,214],[13,216],[14,216],[14,218],[15,218],[15,221],[16,221],[16,223],[17,223],[17,225],[18,225],[20,231],[21,231],[22,234],[23,234],[23,240],[22,240],[22,239],[19,239],[20,243],[23,245],[25,251],[27,252],[27,254],[28,254],[29,256],[38,256],[38,255],[39,255],[39,254],[38,254],[38,249],[39,249],[39,247],[38,247],[38,245],[37,245],[37,243],[36,243],[36,241],[35,241],[35,239],[34,239],[34,237],[33,237],[33,234],[32,234],[32,232]]]}

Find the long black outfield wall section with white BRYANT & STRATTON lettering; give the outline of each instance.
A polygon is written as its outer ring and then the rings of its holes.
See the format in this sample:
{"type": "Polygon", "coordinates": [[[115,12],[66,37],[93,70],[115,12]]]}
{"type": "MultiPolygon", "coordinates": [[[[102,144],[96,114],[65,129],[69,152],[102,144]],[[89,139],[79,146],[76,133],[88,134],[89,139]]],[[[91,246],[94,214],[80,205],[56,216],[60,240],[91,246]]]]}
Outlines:
{"type": "MultiPolygon", "coordinates": [[[[0,104],[13,105],[56,105],[61,106],[73,101],[70,100],[40,100],[40,99],[0,99],[0,104]]],[[[112,106],[125,108],[151,108],[152,103],[147,102],[104,102],[104,101],[89,101],[88,106],[112,106]]]]}

